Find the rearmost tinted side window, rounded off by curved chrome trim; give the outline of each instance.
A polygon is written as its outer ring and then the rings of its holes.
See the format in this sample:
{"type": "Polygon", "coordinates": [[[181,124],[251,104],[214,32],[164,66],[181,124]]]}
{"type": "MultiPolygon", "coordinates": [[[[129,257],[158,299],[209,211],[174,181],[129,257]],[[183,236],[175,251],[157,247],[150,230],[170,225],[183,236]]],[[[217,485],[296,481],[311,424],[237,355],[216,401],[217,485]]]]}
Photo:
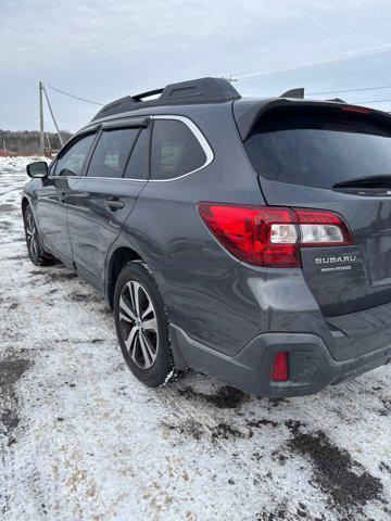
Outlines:
{"type": "Polygon", "coordinates": [[[192,131],[175,119],[155,119],[151,149],[151,178],[172,179],[200,168],[205,152],[192,131]]]}

